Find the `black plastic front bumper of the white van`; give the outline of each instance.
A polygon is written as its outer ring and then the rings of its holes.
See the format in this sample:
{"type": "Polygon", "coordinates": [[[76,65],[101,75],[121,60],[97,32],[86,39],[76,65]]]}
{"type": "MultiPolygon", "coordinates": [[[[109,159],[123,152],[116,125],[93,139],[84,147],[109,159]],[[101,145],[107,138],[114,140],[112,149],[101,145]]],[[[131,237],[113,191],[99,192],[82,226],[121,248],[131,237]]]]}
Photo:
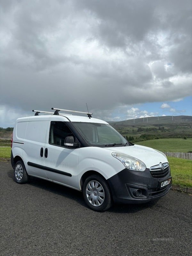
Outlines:
{"type": "Polygon", "coordinates": [[[160,188],[160,183],[171,178],[169,168],[168,174],[160,179],[153,178],[149,169],[144,172],[124,169],[108,179],[114,203],[140,204],[152,201],[167,194],[171,183],[160,188]]]}

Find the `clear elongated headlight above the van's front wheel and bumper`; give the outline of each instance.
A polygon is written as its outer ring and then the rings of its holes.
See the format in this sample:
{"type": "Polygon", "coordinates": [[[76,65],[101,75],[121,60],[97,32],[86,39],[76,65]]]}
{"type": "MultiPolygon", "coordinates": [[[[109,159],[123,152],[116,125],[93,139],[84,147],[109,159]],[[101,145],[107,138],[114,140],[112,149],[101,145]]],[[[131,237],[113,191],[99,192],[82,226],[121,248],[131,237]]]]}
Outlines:
{"type": "Polygon", "coordinates": [[[113,152],[112,156],[119,159],[127,169],[140,172],[143,172],[146,169],[145,164],[133,156],[128,156],[118,152],[113,152]]]}

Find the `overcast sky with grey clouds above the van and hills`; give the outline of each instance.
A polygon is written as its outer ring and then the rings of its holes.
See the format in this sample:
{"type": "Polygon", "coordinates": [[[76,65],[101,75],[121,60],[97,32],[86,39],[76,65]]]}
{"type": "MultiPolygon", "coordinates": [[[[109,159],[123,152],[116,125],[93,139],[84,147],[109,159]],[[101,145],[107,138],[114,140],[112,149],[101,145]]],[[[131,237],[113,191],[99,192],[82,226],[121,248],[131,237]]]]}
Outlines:
{"type": "Polygon", "coordinates": [[[191,0],[1,0],[0,127],[32,109],[192,115],[191,0]]]}

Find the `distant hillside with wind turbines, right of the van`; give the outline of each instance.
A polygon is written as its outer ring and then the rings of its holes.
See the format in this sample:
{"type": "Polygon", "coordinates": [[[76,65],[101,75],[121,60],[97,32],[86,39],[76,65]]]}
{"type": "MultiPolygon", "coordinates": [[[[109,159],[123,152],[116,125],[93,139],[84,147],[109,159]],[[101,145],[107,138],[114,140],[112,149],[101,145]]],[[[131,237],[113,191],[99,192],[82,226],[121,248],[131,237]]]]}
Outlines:
{"type": "Polygon", "coordinates": [[[134,142],[184,136],[192,138],[192,116],[155,116],[110,122],[110,124],[123,136],[131,136],[131,141],[134,142]],[[150,134],[151,138],[143,134],[150,134]]]}

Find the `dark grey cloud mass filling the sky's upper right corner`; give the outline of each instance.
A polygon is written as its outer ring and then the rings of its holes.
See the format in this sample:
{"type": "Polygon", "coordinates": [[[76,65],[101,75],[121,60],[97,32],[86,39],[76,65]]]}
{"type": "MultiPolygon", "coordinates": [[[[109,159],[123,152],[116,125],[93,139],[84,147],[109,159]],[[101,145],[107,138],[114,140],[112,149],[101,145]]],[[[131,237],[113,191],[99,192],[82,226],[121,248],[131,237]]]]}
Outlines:
{"type": "MultiPolygon", "coordinates": [[[[177,66],[181,58],[183,60],[187,58],[183,68],[188,70],[188,62],[191,61],[189,45],[192,43],[190,0],[84,0],[77,1],[77,4],[79,8],[84,7],[91,11],[100,20],[96,35],[103,44],[123,48],[125,52],[128,47],[134,52],[134,45],[139,47],[142,42],[144,52],[150,51],[150,57],[154,55],[161,59],[162,46],[156,42],[155,37],[160,32],[165,33],[167,34],[165,46],[170,48],[173,46],[171,54],[165,55],[167,61],[171,60],[177,66]]],[[[138,54],[138,51],[135,54],[138,54]]]]}

